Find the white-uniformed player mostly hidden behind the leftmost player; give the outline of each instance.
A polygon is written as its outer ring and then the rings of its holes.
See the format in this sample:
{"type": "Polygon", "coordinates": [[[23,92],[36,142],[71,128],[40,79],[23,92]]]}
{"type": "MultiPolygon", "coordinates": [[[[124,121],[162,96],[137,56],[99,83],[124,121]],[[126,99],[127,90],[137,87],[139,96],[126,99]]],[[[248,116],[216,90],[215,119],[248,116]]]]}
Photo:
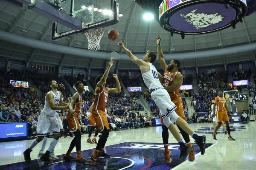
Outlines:
{"type": "MultiPolygon", "coordinates": [[[[60,97],[61,97],[61,99],[62,99],[62,101],[63,101],[64,97],[63,97],[62,92],[65,90],[65,86],[64,86],[62,83],[59,83],[59,84],[58,84],[58,90],[59,90],[58,93],[59,93],[59,95],[60,95],[60,97]]],[[[55,94],[53,94],[53,97],[54,97],[54,96],[55,96],[55,94]]],[[[58,96],[57,96],[57,97],[58,97],[58,96]]],[[[66,104],[69,104],[70,99],[71,99],[71,97],[69,97],[69,98],[67,99],[68,103],[66,103],[66,104]]],[[[56,112],[55,112],[55,116],[56,116],[56,118],[57,118],[57,120],[58,120],[58,124],[59,124],[59,127],[60,127],[60,132],[61,132],[61,136],[62,136],[62,135],[64,134],[64,129],[63,129],[63,125],[62,125],[62,122],[61,122],[60,115],[59,115],[60,112],[61,112],[61,110],[56,111],[56,112]]],[[[39,150],[38,158],[41,158],[41,156],[44,155],[44,153],[45,153],[45,152],[44,152],[44,148],[45,148],[45,146],[46,146],[46,144],[47,144],[47,142],[48,142],[48,140],[49,140],[50,134],[52,134],[51,131],[49,131],[48,134],[47,134],[47,136],[44,137],[44,140],[43,140],[42,146],[41,146],[41,150],[39,150]]],[[[54,151],[49,154],[49,157],[50,157],[51,159],[58,159],[58,157],[55,156],[54,151]]]]}

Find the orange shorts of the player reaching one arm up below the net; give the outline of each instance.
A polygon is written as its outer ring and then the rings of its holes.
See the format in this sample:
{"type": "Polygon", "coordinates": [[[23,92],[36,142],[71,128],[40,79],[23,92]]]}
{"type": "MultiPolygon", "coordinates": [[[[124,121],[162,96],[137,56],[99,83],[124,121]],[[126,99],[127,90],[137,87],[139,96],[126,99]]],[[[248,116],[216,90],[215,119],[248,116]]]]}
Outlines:
{"type": "Polygon", "coordinates": [[[99,110],[92,111],[92,115],[95,119],[99,133],[102,132],[104,128],[109,129],[108,119],[107,119],[107,116],[105,115],[105,111],[99,111],[99,110]]]}

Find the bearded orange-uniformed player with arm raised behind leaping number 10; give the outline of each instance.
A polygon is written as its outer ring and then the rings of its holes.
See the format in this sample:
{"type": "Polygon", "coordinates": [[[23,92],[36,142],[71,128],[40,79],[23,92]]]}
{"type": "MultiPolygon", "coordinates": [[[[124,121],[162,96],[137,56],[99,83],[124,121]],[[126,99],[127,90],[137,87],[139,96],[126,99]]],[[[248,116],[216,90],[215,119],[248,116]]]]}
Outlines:
{"type": "MultiPolygon", "coordinates": [[[[162,48],[161,48],[161,37],[160,35],[157,36],[157,54],[159,57],[159,62],[161,65],[161,68],[164,71],[164,76],[162,79],[161,75],[159,76],[160,82],[163,85],[164,89],[166,89],[169,93],[169,96],[171,97],[172,102],[177,106],[175,109],[175,112],[177,113],[178,116],[180,116],[182,119],[187,121],[184,111],[183,111],[183,103],[182,99],[180,98],[180,86],[182,85],[183,82],[183,76],[182,74],[178,71],[178,68],[180,67],[180,62],[176,59],[172,60],[168,65],[165,62],[162,48]]],[[[168,149],[168,138],[169,138],[169,132],[168,128],[163,124],[163,119],[162,116],[160,115],[161,122],[162,122],[162,138],[163,138],[163,145],[165,148],[165,160],[166,163],[170,163],[172,161],[171,159],[171,151],[168,149]]],[[[186,142],[186,145],[188,147],[191,147],[191,151],[189,152],[189,161],[194,161],[195,160],[195,150],[194,147],[192,147],[189,139],[189,134],[186,133],[179,125],[177,127],[180,130],[181,135],[183,136],[183,139],[186,142]]],[[[183,148],[180,148],[182,150],[183,148]]]]}

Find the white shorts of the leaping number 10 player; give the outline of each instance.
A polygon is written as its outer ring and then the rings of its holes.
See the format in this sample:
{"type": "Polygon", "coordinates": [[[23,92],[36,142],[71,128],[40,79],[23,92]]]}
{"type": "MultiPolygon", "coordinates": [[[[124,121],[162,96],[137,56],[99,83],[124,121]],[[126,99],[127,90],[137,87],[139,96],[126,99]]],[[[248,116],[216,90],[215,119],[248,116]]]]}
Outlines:
{"type": "Polygon", "coordinates": [[[171,101],[168,92],[164,88],[159,88],[151,93],[151,97],[159,108],[162,117],[171,117],[176,122],[179,118],[177,113],[174,112],[177,107],[171,101]]]}

